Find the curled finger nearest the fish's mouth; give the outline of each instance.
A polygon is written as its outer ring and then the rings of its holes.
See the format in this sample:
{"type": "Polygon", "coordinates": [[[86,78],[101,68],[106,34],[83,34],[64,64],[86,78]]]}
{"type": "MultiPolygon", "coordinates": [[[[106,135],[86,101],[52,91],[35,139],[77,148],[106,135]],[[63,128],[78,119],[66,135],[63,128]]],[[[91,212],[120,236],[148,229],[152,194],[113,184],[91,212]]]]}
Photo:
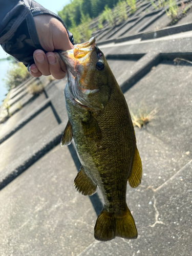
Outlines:
{"type": "Polygon", "coordinates": [[[53,52],[46,53],[49,62],[49,71],[56,79],[62,79],[66,76],[66,67],[63,61],[59,62],[59,55],[53,52]]]}

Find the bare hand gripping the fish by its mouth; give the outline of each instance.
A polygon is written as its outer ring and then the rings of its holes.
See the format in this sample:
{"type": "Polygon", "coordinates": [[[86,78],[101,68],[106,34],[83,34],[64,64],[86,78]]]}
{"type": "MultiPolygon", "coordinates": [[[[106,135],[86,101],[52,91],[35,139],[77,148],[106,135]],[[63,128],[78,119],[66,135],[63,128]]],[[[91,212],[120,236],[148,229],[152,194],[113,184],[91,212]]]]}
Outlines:
{"type": "Polygon", "coordinates": [[[35,16],[34,22],[40,45],[47,53],[40,49],[34,51],[35,64],[30,66],[30,74],[34,77],[52,75],[56,79],[64,78],[67,72],[66,65],[59,54],[53,51],[74,48],[65,27],[51,15],[35,16]]]}

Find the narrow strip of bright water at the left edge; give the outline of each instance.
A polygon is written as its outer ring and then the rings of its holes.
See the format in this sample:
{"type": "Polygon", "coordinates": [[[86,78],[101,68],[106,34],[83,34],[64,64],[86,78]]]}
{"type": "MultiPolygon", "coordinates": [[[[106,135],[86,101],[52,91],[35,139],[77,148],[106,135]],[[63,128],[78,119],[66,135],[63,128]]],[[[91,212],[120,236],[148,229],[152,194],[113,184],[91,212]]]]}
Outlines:
{"type": "Polygon", "coordinates": [[[6,73],[10,67],[10,61],[4,60],[0,61],[0,106],[5,99],[6,93],[8,93],[8,90],[5,88],[5,81],[3,81],[3,78],[5,78],[6,73]]]}

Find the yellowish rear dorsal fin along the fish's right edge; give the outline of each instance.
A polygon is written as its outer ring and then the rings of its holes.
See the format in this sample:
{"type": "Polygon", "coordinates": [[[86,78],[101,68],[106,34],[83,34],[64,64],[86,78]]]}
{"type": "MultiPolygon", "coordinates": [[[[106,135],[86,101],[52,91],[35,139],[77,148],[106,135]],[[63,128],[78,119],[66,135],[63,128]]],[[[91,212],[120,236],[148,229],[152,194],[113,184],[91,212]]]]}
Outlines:
{"type": "Polygon", "coordinates": [[[129,180],[129,184],[131,187],[137,187],[141,183],[142,178],[142,163],[141,158],[139,156],[138,149],[135,149],[135,156],[133,160],[132,173],[129,180]]]}

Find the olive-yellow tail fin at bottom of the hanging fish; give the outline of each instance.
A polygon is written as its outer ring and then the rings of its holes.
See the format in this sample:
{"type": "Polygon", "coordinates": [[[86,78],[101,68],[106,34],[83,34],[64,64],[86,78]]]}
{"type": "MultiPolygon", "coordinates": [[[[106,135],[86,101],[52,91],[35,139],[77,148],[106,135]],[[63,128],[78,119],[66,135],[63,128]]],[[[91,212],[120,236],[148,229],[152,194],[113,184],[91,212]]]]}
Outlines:
{"type": "Polygon", "coordinates": [[[95,239],[100,241],[112,240],[115,237],[136,239],[135,221],[128,207],[121,215],[102,210],[95,224],[95,239]]]}

